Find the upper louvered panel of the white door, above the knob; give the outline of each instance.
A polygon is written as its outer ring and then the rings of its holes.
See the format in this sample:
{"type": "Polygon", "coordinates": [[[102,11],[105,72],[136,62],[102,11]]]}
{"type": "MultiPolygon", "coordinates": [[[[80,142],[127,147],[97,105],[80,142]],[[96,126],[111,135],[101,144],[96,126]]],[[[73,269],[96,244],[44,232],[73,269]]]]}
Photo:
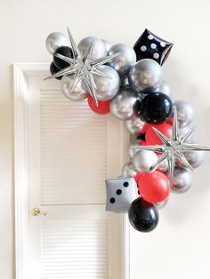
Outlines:
{"type": "Polygon", "coordinates": [[[104,203],[107,117],[56,90],[40,97],[42,203],[104,203]]]}

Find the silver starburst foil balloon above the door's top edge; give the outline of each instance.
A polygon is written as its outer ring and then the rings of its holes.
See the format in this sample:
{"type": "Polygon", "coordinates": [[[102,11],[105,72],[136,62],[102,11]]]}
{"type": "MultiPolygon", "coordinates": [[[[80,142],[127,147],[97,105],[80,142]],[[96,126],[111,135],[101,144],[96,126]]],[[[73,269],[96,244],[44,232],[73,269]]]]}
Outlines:
{"type": "Polygon", "coordinates": [[[68,34],[69,34],[69,40],[73,52],[73,59],[61,55],[59,53],[56,53],[55,56],[60,58],[61,60],[68,62],[69,66],[67,68],[61,69],[61,71],[59,71],[58,73],[52,76],[46,77],[45,79],[52,79],[55,77],[67,76],[67,75],[75,75],[73,83],[71,84],[71,87],[69,89],[69,92],[72,92],[74,90],[78,82],[84,81],[86,91],[91,94],[96,106],[98,106],[98,100],[95,92],[96,85],[94,83],[93,75],[102,76],[104,78],[111,79],[112,78],[111,76],[108,76],[103,72],[101,72],[101,70],[99,70],[98,67],[107,63],[109,60],[112,60],[113,58],[117,57],[120,53],[114,53],[112,55],[102,57],[97,60],[92,60],[91,55],[93,52],[94,43],[92,42],[92,44],[90,44],[89,48],[83,55],[78,50],[77,44],[75,43],[73,37],[71,36],[69,28],[68,28],[68,34]]]}

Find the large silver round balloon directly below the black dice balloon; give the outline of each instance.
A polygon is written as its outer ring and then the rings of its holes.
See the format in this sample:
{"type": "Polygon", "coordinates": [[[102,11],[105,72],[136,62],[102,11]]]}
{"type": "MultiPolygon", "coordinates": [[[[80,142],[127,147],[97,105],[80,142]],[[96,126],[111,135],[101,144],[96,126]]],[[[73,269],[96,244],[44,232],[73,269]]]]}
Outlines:
{"type": "Polygon", "coordinates": [[[155,60],[144,59],[138,61],[131,68],[129,84],[136,92],[154,92],[162,83],[162,68],[155,60]]]}

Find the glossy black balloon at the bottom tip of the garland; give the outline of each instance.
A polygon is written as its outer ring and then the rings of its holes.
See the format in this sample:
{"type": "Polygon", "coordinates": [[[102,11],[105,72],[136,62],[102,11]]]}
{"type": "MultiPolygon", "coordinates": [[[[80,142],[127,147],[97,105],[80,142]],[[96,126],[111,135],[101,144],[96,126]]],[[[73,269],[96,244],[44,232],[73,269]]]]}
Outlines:
{"type": "Polygon", "coordinates": [[[157,227],[159,214],[154,204],[148,203],[139,197],[131,204],[128,218],[136,230],[148,233],[157,227]]]}

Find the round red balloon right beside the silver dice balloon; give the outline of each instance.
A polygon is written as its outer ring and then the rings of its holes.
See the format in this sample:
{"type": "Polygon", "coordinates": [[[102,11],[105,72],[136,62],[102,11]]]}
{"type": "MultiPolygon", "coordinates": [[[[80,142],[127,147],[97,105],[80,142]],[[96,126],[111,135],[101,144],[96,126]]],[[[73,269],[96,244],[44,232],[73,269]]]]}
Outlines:
{"type": "Polygon", "coordinates": [[[169,179],[159,171],[143,173],[138,185],[141,197],[149,203],[163,202],[170,194],[169,179]]]}

